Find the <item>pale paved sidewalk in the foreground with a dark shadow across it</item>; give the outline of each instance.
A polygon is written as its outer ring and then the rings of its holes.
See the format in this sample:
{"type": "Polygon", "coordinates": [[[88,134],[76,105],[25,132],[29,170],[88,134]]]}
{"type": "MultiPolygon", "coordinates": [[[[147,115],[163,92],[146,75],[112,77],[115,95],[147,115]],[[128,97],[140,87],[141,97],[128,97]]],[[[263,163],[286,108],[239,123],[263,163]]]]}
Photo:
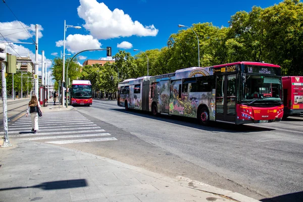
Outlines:
{"type": "Polygon", "coordinates": [[[11,143],[0,148],[0,201],[258,201],[57,145],[11,143]]]}

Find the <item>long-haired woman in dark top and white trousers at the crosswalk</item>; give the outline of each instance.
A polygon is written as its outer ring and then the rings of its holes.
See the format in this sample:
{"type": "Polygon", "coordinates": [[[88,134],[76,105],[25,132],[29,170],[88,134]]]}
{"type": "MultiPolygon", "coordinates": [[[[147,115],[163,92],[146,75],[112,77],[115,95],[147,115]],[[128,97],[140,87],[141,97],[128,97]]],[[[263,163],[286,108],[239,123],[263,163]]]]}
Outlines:
{"type": "Polygon", "coordinates": [[[39,130],[39,126],[38,126],[38,108],[41,108],[37,96],[33,95],[30,99],[30,102],[28,103],[28,107],[27,107],[27,113],[26,113],[26,117],[28,116],[28,113],[30,113],[30,117],[32,119],[32,132],[34,132],[34,134],[37,133],[37,130],[39,130]]]}

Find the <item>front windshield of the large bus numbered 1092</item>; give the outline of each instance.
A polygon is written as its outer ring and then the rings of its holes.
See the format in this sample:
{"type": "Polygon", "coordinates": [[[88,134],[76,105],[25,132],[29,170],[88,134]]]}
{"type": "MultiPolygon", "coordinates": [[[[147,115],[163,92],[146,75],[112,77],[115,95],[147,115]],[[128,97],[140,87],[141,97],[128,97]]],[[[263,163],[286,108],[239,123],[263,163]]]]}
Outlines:
{"type": "Polygon", "coordinates": [[[246,74],[246,82],[241,88],[241,103],[281,102],[282,81],[280,77],[246,74]]]}

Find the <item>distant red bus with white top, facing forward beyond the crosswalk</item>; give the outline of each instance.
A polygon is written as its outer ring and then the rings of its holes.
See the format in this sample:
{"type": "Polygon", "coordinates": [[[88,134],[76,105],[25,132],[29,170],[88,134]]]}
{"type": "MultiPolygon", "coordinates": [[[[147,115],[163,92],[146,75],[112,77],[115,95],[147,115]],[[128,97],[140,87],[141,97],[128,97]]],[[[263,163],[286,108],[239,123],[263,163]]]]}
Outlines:
{"type": "Polygon", "coordinates": [[[92,88],[88,80],[73,80],[69,89],[69,103],[74,105],[90,106],[92,104],[92,88]]]}

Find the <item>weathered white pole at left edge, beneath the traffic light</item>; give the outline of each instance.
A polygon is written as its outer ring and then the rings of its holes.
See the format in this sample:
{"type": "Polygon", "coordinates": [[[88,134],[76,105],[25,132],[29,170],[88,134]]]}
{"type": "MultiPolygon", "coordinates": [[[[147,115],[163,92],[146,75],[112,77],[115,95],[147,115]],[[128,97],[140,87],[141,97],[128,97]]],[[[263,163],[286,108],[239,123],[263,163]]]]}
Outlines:
{"type": "Polygon", "coordinates": [[[1,62],[1,76],[2,76],[2,102],[3,102],[3,130],[4,139],[1,147],[13,146],[10,143],[8,131],[8,106],[7,106],[7,90],[6,90],[6,62],[1,62]]]}

